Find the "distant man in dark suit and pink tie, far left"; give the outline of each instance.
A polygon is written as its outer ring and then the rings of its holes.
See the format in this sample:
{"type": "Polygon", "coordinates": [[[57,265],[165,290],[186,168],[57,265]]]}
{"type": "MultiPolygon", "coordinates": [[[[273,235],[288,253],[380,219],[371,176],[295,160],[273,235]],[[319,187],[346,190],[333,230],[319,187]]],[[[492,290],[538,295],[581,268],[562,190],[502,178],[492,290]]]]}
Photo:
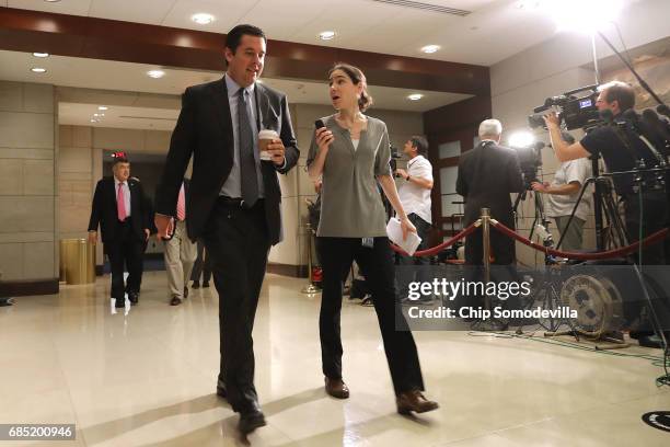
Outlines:
{"type": "Polygon", "coordinates": [[[103,177],[95,186],[89,241],[97,241],[100,225],[104,252],[112,266],[112,298],[116,307],[125,305],[125,293],[132,305],[139,300],[142,283],[142,255],[149,238],[149,213],[140,182],[130,177],[130,163],[125,152],[114,154],[114,175],[103,177]],[[128,282],[124,285],[124,264],[128,282]]]}

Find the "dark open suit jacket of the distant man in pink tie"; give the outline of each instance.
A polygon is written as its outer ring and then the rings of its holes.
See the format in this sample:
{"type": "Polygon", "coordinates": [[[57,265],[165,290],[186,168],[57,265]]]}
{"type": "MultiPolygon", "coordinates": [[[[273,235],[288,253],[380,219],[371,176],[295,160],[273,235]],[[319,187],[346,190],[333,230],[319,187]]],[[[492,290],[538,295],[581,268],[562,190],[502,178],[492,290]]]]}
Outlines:
{"type": "MultiPolygon", "coordinates": [[[[134,179],[128,179],[130,191],[130,217],[132,233],[138,240],[145,240],[145,228],[149,226],[149,214],[146,209],[145,192],[142,184],[134,179]]],[[[103,243],[116,242],[118,237],[118,217],[116,208],[116,187],[114,176],[103,177],[95,185],[93,205],[91,208],[91,219],[89,220],[89,231],[97,231],[97,226],[102,232],[103,243]]]]}

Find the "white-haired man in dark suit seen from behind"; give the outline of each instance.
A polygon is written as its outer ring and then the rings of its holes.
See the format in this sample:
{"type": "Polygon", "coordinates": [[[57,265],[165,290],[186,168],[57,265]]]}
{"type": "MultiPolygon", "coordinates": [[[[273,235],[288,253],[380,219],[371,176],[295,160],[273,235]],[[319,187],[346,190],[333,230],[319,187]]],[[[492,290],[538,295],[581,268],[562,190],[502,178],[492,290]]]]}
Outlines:
{"type": "MultiPolygon", "coordinates": [[[[517,152],[498,146],[503,126],[497,119],[486,119],[480,125],[480,144],[464,152],[459,161],[457,193],[465,199],[465,226],[476,221],[482,208],[489,208],[490,216],[511,229],[515,216],[510,193],[523,191],[523,177],[517,152]]],[[[492,228],[490,251],[493,264],[511,265],[515,263],[515,241],[492,228]]],[[[465,264],[483,265],[484,245],[482,229],[467,237],[465,242],[465,264]]],[[[469,270],[471,275],[474,274],[469,270]]],[[[482,279],[482,278],[478,278],[482,279]]],[[[470,305],[477,305],[470,302],[470,305]]]]}

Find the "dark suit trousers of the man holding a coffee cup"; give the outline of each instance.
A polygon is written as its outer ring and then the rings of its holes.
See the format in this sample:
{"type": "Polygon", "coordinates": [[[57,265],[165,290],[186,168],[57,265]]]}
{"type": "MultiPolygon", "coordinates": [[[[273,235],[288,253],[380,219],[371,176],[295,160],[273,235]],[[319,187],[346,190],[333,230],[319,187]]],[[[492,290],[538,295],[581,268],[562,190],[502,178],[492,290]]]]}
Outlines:
{"type": "Polygon", "coordinates": [[[233,411],[244,413],[258,400],[252,331],[270,248],[263,200],[245,209],[219,199],[203,240],[219,294],[219,382],[233,411]]]}

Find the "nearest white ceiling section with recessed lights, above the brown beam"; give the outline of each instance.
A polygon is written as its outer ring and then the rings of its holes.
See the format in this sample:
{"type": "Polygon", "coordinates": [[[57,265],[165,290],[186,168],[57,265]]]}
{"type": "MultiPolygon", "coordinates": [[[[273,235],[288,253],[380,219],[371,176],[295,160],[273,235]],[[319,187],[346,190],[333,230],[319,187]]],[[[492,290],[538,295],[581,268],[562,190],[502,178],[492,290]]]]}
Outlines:
{"type": "Polygon", "coordinates": [[[216,33],[252,23],[272,39],[490,66],[555,33],[551,19],[519,9],[519,1],[424,0],[472,11],[464,18],[372,0],[0,0],[0,4],[216,33]],[[198,25],[190,20],[198,12],[216,20],[198,25]],[[336,31],[337,37],[319,41],[324,30],[336,31]],[[428,44],[442,49],[420,53],[428,44]]]}

